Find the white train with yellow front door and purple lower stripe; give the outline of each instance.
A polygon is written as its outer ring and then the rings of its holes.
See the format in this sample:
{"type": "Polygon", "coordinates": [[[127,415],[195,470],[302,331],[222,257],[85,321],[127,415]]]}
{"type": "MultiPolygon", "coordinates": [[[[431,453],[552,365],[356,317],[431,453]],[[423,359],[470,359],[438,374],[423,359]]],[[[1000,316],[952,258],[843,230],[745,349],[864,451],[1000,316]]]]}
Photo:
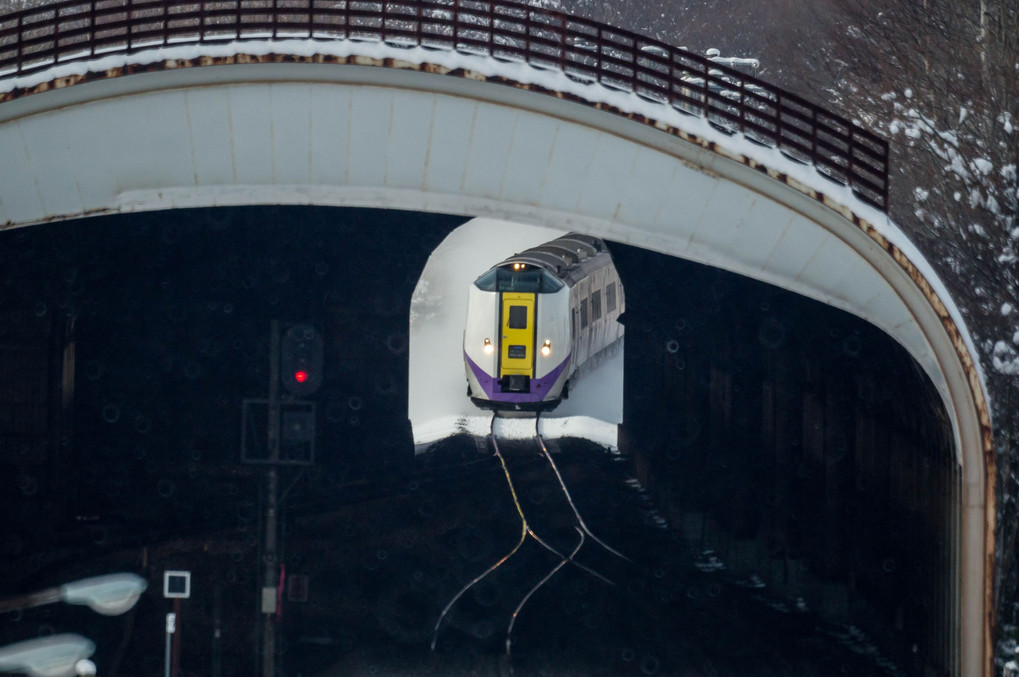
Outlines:
{"type": "Polygon", "coordinates": [[[570,232],[497,263],[468,293],[468,396],[483,409],[554,409],[578,370],[623,338],[625,311],[597,238],[570,232]]]}

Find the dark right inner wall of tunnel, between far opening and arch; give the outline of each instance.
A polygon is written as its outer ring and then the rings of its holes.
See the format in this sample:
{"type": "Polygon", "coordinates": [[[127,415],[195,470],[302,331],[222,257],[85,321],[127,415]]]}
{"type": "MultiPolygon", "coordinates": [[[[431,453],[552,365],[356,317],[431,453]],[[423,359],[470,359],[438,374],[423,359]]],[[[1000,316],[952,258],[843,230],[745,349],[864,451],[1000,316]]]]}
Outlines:
{"type": "Polygon", "coordinates": [[[947,669],[959,476],[915,360],[818,302],[612,253],[628,303],[621,437],[695,553],[947,669]]]}

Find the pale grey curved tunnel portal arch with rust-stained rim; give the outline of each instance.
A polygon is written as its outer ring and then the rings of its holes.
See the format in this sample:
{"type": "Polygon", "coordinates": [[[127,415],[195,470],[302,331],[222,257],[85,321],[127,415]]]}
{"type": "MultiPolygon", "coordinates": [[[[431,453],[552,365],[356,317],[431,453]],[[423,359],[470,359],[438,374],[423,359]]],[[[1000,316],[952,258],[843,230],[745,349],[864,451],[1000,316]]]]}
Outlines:
{"type": "Polygon", "coordinates": [[[913,355],[952,420],[958,663],[960,674],[989,675],[983,387],[951,299],[918,253],[893,242],[894,226],[653,120],[421,70],[164,63],[14,98],[0,106],[0,224],[238,204],[486,215],[715,265],[858,315],[913,355]]]}

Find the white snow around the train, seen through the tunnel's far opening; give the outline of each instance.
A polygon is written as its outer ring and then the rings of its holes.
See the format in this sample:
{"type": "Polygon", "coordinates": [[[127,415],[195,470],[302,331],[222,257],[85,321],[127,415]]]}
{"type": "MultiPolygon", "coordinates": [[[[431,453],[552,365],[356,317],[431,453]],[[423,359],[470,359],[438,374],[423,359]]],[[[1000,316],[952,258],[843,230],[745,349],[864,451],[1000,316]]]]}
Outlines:
{"type": "MultiPolygon", "coordinates": [[[[553,240],[562,230],[473,219],[451,232],[428,259],[411,299],[409,416],[422,449],[452,434],[487,435],[492,414],[467,397],[464,320],[472,282],[507,256],[553,240]]],[[[549,437],[583,437],[615,447],[623,422],[622,346],[573,380],[570,399],[541,417],[549,437]]],[[[530,417],[504,421],[499,434],[530,437],[530,417]]]]}

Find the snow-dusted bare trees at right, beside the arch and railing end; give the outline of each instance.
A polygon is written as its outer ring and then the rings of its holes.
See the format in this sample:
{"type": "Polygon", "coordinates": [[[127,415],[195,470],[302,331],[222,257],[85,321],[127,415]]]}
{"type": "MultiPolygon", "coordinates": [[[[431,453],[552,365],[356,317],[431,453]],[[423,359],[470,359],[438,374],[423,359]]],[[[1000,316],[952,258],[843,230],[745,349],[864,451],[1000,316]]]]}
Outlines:
{"type": "Polygon", "coordinates": [[[835,0],[841,98],[894,145],[894,216],[946,266],[987,366],[1019,373],[1019,7],[835,0]],[[852,54],[872,58],[853,58],[852,54]],[[1004,321],[1003,321],[1004,320],[1004,321]],[[1003,330],[1004,326],[1004,330],[1003,330]]]}

